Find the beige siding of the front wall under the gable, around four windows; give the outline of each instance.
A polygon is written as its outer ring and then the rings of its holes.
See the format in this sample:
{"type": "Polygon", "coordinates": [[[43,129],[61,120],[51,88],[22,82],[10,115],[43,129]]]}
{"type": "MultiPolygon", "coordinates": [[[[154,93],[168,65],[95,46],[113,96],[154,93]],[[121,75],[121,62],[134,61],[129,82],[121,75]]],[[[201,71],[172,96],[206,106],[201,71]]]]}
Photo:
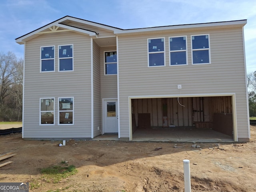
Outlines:
{"type": "Polygon", "coordinates": [[[24,138],[91,137],[90,38],[74,32],[43,34],[26,42],[24,138]],[[58,72],[58,45],[74,45],[74,71],[58,72]],[[55,45],[55,72],[40,73],[40,46],[55,45]],[[55,99],[55,126],[39,126],[39,98],[55,99]],[[58,97],[74,97],[74,125],[58,125],[58,97]]]}

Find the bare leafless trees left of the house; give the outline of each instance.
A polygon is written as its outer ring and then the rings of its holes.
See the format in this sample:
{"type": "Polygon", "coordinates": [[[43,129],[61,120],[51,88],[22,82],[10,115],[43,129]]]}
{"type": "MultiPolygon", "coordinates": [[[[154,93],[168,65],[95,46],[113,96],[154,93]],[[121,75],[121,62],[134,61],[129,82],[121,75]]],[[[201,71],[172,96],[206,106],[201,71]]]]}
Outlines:
{"type": "Polygon", "coordinates": [[[23,59],[0,53],[0,121],[22,121],[23,59]]]}

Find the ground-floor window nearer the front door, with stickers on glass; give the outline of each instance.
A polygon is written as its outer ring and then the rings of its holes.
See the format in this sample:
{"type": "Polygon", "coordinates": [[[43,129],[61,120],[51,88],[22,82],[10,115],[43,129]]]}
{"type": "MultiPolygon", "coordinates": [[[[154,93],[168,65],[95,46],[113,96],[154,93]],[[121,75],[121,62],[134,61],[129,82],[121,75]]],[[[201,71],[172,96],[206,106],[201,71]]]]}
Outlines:
{"type": "Polygon", "coordinates": [[[59,98],[58,125],[74,125],[74,97],[59,98]]]}

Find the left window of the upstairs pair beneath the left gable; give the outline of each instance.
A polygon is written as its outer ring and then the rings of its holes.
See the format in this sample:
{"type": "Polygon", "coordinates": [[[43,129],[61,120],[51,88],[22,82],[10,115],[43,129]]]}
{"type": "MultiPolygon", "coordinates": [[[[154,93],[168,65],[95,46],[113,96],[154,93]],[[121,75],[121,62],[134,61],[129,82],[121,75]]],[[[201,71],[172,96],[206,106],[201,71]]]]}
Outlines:
{"type": "Polygon", "coordinates": [[[55,46],[41,47],[40,72],[55,71],[55,46]]]}

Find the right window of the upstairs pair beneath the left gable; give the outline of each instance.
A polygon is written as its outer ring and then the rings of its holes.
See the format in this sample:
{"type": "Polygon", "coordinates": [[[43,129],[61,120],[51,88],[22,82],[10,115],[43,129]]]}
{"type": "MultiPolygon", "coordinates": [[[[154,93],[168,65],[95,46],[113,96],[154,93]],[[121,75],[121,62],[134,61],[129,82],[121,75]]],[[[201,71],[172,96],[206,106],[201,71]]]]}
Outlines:
{"type": "Polygon", "coordinates": [[[59,45],[59,71],[73,71],[73,45],[59,45]]]}

